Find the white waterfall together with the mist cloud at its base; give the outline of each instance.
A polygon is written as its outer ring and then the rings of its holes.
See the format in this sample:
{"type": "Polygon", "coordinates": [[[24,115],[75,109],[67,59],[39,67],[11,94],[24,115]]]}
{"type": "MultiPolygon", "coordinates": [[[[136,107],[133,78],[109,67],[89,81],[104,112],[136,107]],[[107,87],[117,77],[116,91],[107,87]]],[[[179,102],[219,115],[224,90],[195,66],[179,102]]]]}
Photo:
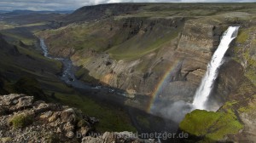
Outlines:
{"type": "Polygon", "coordinates": [[[214,88],[214,82],[218,77],[219,67],[224,63],[224,54],[229,49],[232,40],[236,38],[238,29],[239,26],[230,26],[224,32],[218,49],[212,55],[212,60],[207,66],[206,75],[202,78],[201,84],[195,92],[192,103],[183,100],[163,101],[162,103],[156,102],[151,112],[160,117],[172,119],[172,121],[180,123],[187,113],[195,109],[217,111],[222,105],[219,105],[215,100],[211,100],[210,95],[214,88]]]}

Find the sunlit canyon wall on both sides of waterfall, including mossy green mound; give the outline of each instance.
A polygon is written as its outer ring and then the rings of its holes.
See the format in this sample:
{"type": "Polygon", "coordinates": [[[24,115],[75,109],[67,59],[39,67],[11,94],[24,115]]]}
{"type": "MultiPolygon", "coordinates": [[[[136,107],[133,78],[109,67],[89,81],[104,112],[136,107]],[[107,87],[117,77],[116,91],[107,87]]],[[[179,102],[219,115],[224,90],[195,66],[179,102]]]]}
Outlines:
{"type": "MultiPolygon", "coordinates": [[[[250,137],[245,136],[253,130],[250,124],[254,123],[252,119],[255,114],[253,112],[255,43],[252,40],[254,19],[252,20],[251,16],[247,13],[229,13],[194,20],[124,18],[74,24],[55,31],[44,31],[41,34],[51,49],[49,50],[51,54],[70,56],[73,64],[81,67],[77,72],[77,77],[80,79],[123,89],[127,93],[134,94],[134,97],[138,97],[138,94],[155,96],[160,104],[159,109],[162,109],[165,107],[162,105],[168,105],[172,101],[192,101],[195,89],[201,83],[201,77],[206,72],[207,63],[218,46],[222,32],[228,26],[241,26],[240,34],[236,41],[231,43],[230,50],[226,54],[224,65],[214,85],[211,104],[209,103],[210,106],[221,106],[221,108],[218,112],[195,111],[188,114],[180,124],[180,129],[191,135],[190,141],[252,141],[253,134],[250,134],[250,137]],[[247,22],[248,20],[251,21],[247,22]],[[177,25],[171,25],[176,22],[177,25]],[[93,31],[88,30],[87,27],[93,31]],[[77,43],[72,41],[67,42],[66,48],[63,48],[60,41],[79,37],[80,35],[70,31],[81,28],[84,31],[82,35],[85,36],[80,37],[76,42],[83,43],[84,48],[76,49],[77,43]],[[121,37],[120,32],[124,37],[121,37]],[[177,33],[168,34],[174,32],[177,33]],[[244,32],[249,36],[247,37],[244,32]],[[102,37],[107,37],[107,40],[102,37]],[[154,40],[153,37],[160,38],[154,40]],[[148,47],[138,45],[144,41],[157,45],[153,44],[155,46],[153,49],[148,49],[150,47],[148,45],[148,47]],[[133,47],[144,53],[134,52],[133,47]],[[61,52],[57,52],[59,50],[61,52]],[[89,72],[84,74],[83,69],[89,72]],[[97,81],[90,81],[89,76],[96,78],[97,81]],[[161,90],[155,92],[160,85],[161,90]],[[222,126],[223,124],[225,126],[222,126]],[[201,128],[196,130],[195,127],[201,128]],[[239,134],[241,138],[236,139],[232,134],[239,134]]],[[[128,101],[126,103],[146,110],[147,107],[138,106],[141,105],[140,102],[143,100],[138,100],[137,104],[128,101]]]]}

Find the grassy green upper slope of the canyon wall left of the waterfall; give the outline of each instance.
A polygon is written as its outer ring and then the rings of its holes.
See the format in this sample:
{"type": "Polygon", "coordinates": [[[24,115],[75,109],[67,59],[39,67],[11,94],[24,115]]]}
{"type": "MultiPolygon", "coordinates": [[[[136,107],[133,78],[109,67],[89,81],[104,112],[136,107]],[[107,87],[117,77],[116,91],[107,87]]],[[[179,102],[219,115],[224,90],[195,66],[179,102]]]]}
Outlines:
{"type": "MultiPolygon", "coordinates": [[[[127,21],[130,20],[130,18],[127,19],[127,21]]],[[[140,20],[134,18],[131,18],[131,20],[136,23],[131,27],[122,26],[126,19],[102,20],[89,24],[73,24],[57,30],[42,31],[38,32],[37,35],[44,37],[52,49],[73,48],[78,54],[87,53],[91,49],[97,53],[108,53],[115,60],[134,60],[160,49],[177,37],[183,28],[183,24],[175,29],[157,23],[150,29],[147,27],[150,22],[145,18],[142,18],[142,20],[148,23],[145,24],[145,27],[138,28],[140,20]],[[111,27],[113,27],[112,30],[111,27]],[[148,30],[144,31],[146,27],[148,30]]],[[[156,20],[165,19],[157,18],[156,20]]],[[[87,58],[82,58],[79,63],[87,62],[87,58]],[[85,60],[83,61],[83,59],[85,60]]]]}

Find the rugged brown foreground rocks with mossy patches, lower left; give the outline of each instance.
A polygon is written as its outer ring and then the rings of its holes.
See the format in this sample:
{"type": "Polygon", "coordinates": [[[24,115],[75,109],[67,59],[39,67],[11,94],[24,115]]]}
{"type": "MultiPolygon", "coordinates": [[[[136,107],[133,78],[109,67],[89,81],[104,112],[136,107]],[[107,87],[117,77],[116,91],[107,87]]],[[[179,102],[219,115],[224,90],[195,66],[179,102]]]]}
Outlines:
{"type": "Polygon", "coordinates": [[[97,122],[78,109],[34,101],[33,96],[0,96],[0,142],[154,142],[126,132],[98,134],[97,122]]]}

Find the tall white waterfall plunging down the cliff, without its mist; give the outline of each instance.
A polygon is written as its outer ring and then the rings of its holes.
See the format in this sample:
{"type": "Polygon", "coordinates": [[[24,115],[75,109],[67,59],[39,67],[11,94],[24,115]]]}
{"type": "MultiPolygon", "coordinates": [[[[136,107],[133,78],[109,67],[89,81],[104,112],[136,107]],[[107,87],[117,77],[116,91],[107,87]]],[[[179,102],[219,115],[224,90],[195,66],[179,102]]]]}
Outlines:
{"type": "Polygon", "coordinates": [[[207,73],[202,78],[200,87],[196,90],[193,105],[196,109],[206,109],[206,102],[212,92],[215,79],[218,77],[219,66],[223,64],[224,54],[230,47],[231,41],[236,38],[239,26],[230,26],[218,45],[218,49],[212,56],[212,60],[207,66],[207,73]]]}

